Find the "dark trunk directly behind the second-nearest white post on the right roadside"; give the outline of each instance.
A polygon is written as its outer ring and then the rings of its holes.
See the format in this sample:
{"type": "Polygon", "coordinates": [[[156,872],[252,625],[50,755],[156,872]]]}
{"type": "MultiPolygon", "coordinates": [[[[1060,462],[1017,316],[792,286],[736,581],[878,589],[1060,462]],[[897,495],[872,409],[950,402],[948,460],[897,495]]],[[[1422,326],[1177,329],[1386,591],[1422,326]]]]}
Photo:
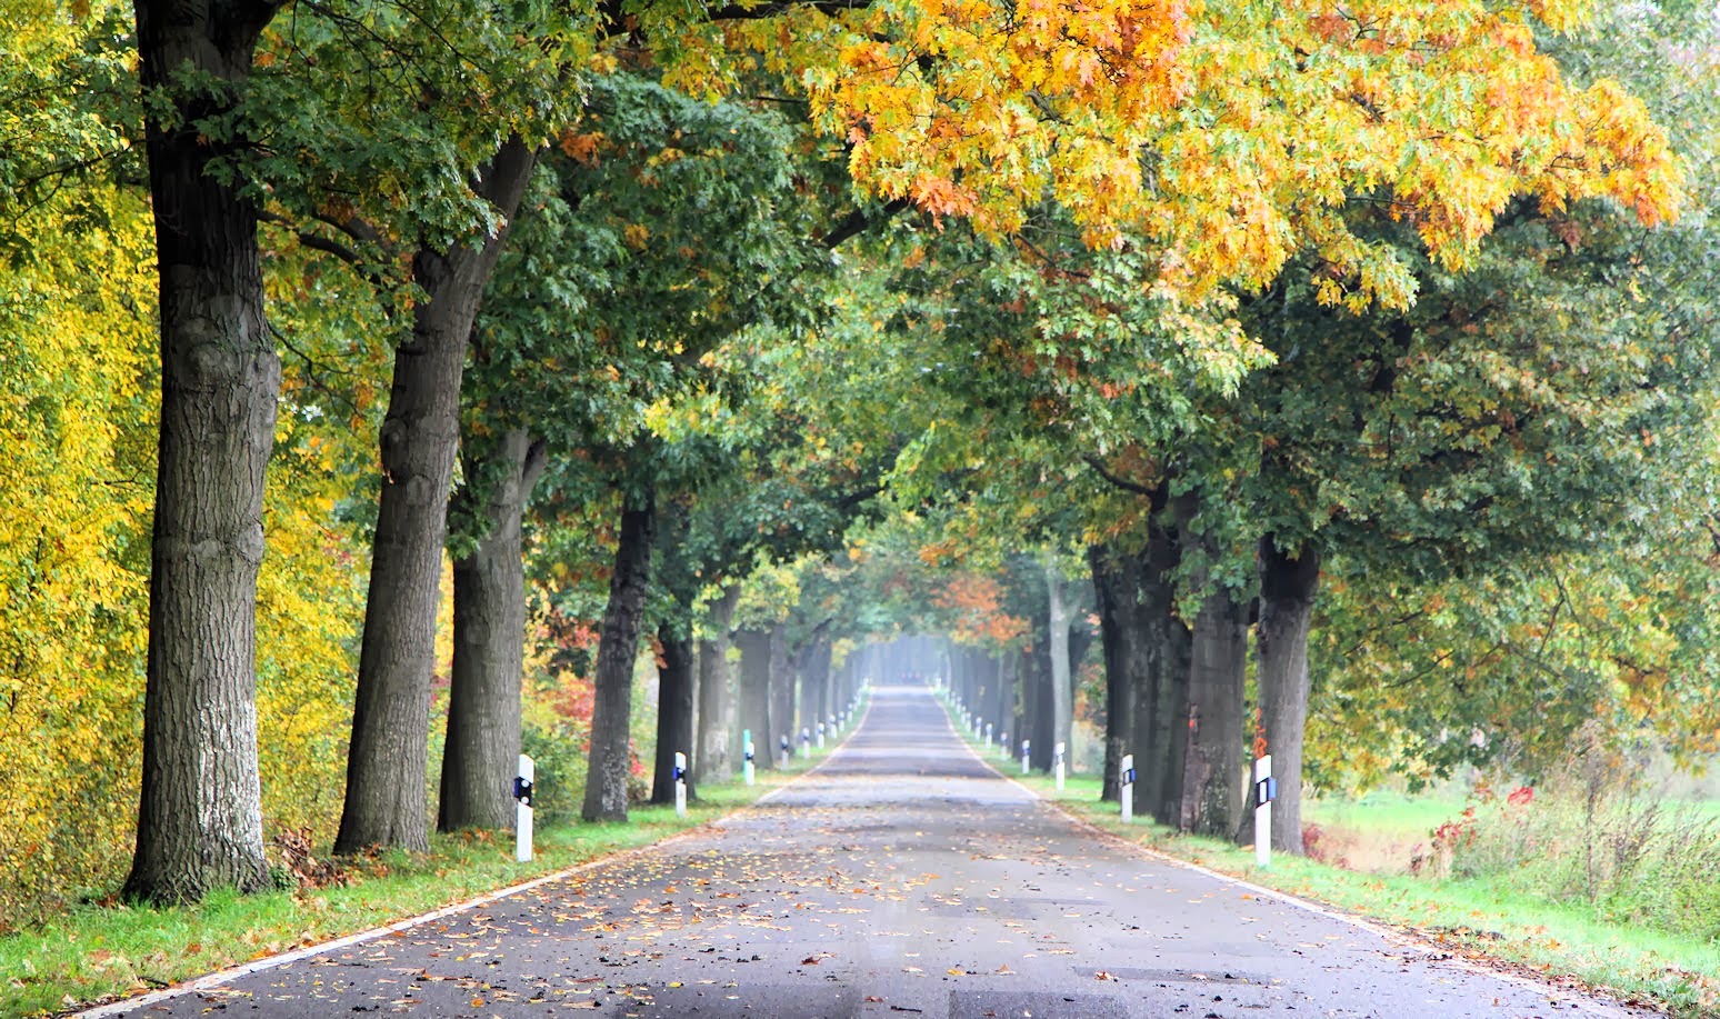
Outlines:
{"type": "MultiPolygon", "coordinates": [[[[1089,546],[1087,566],[1099,609],[1104,656],[1104,781],[1099,799],[1120,802],[1123,756],[1135,752],[1135,690],[1146,675],[1147,640],[1139,630],[1139,561],[1111,546],[1089,546]]],[[[1139,773],[1140,768],[1137,766],[1139,773]]]]}

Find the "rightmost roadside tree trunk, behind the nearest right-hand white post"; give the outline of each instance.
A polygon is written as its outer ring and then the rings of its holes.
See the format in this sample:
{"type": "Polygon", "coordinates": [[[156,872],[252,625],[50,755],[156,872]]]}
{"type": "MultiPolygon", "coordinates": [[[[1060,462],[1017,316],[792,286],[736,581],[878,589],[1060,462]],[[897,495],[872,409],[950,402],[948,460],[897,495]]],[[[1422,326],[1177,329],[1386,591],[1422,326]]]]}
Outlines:
{"type": "Polygon", "coordinates": [[[1256,630],[1266,752],[1273,756],[1278,802],[1273,849],[1302,852],[1302,737],[1307,726],[1307,633],[1319,592],[1319,549],[1278,551],[1261,539],[1261,623],[1256,630]]]}

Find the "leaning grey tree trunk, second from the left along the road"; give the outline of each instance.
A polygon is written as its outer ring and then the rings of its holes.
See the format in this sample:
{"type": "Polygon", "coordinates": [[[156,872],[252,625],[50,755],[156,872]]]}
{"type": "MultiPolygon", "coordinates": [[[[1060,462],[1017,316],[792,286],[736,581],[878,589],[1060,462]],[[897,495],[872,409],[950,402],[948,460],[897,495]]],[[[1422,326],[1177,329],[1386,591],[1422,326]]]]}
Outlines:
{"type": "MultiPolygon", "coordinates": [[[[483,169],[478,193],[504,220],[519,205],[535,162],[535,150],[511,139],[483,169]]],[[[413,282],[427,300],[413,308],[413,334],[394,353],[382,422],[382,501],[358,654],[346,804],[335,838],[341,854],[372,845],[430,847],[430,676],[459,444],[459,380],[471,324],[506,234],[504,225],[482,244],[447,253],[420,250],[413,258],[413,282]]]]}

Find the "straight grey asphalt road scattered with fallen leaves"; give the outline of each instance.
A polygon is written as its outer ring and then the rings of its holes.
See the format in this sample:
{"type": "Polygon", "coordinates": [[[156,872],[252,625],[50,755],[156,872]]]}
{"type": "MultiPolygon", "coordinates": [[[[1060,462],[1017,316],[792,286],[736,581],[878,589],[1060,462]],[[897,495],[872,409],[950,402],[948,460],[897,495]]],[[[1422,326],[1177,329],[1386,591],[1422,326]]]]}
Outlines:
{"type": "Polygon", "coordinates": [[[710,830],[217,979],[103,1014],[1639,1016],[1099,837],[913,687],[710,830]]]}

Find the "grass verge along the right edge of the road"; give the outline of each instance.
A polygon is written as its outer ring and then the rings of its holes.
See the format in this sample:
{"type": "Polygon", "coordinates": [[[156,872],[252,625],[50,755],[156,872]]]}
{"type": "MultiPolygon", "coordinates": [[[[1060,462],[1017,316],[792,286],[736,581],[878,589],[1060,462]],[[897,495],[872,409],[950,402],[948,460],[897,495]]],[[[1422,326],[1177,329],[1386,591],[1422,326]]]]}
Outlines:
{"type": "Polygon", "coordinates": [[[960,719],[955,728],[1041,799],[1154,852],[1391,924],[1453,955],[1584,986],[1677,1019],[1720,1019],[1720,947],[1711,940],[1606,923],[1591,909],[1553,905],[1491,880],[1369,874],[1287,854],[1275,854],[1262,869],[1254,866],[1252,845],[1180,835],[1139,816],[1123,824],[1116,804],[1099,802],[1097,776],[1070,776],[1060,792],[1049,775],[1020,775],[996,747],[963,732],[960,719]]]}

